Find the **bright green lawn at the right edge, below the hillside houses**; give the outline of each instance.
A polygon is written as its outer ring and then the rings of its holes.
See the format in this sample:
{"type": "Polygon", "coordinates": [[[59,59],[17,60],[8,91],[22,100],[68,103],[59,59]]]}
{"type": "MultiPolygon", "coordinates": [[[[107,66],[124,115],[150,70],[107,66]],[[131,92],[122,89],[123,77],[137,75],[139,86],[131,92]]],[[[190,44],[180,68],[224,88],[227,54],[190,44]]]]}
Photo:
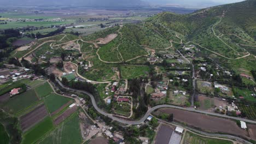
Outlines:
{"type": "Polygon", "coordinates": [[[250,91],[249,89],[246,88],[238,88],[238,87],[233,87],[232,91],[235,95],[235,97],[244,97],[248,101],[256,101],[256,98],[254,98],[251,94],[254,92],[250,91]]]}

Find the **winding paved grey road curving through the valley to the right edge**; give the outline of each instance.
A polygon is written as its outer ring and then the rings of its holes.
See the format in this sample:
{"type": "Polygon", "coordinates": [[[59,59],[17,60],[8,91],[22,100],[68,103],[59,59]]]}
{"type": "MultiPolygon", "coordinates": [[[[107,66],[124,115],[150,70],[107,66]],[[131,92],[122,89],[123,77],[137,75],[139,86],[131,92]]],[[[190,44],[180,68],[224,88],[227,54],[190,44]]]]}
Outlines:
{"type": "Polygon", "coordinates": [[[238,120],[238,121],[244,121],[244,122],[256,124],[256,121],[252,121],[252,120],[245,119],[245,118],[239,118],[239,117],[231,117],[231,116],[226,116],[226,115],[220,115],[220,114],[218,114],[218,113],[211,113],[211,112],[206,112],[206,111],[195,110],[194,108],[191,108],[191,107],[179,107],[179,106],[174,106],[174,105],[158,105],[158,106],[154,106],[154,107],[152,107],[151,109],[149,109],[149,110],[147,111],[147,113],[146,113],[141,119],[139,119],[138,121],[127,121],[127,120],[125,120],[125,119],[120,119],[120,118],[114,117],[114,116],[113,116],[112,114],[110,114],[110,113],[106,113],[106,112],[102,111],[102,110],[97,106],[96,101],[95,101],[95,98],[94,98],[94,95],[92,95],[91,93],[86,92],[86,91],[82,91],[82,90],[78,90],[78,89],[67,88],[67,87],[65,87],[59,80],[56,79],[56,81],[59,83],[59,85],[60,85],[62,88],[65,88],[65,89],[68,89],[68,90],[71,90],[71,91],[77,91],[77,92],[80,92],[80,93],[89,95],[89,97],[91,98],[92,105],[94,106],[94,108],[95,108],[99,113],[101,113],[101,114],[104,115],[104,116],[108,116],[109,118],[113,119],[114,121],[117,121],[117,122],[120,122],[120,123],[124,123],[124,124],[132,124],[132,125],[141,124],[141,123],[143,123],[143,122],[148,118],[148,116],[150,115],[151,112],[153,112],[154,110],[160,109],[160,108],[164,108],[164,107],[170,107],[170,108],[179,109],[179,110],[185,110],[185,111],[190,111],[190,112],[198,112],[198,113],[202,113],[202,114],[206,114],[206,115],[212,115],[212,116],[217,116],[217,117],[222,117],[222,118],[230,118],[230,119],[235,119],[235,120],[238,120]]]}

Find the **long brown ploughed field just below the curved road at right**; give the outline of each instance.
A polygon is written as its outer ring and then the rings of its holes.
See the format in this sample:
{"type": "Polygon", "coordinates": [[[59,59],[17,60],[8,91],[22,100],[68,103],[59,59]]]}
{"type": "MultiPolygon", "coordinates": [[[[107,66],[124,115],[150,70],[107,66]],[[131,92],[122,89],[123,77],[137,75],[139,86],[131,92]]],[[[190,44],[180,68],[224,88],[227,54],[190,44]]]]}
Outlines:
{"type": "Polygon", "coordinates": [[[239,135],[246,138],[249,137],[249,134],[246,130],[241,129],[237,126],[236,122],[229,119],[171,108],[159,109],[156,113],[173,113],[174,121],[187,123],[192,127],[200,128],[211,133],[221,132],[232,135],[239,135]]]}

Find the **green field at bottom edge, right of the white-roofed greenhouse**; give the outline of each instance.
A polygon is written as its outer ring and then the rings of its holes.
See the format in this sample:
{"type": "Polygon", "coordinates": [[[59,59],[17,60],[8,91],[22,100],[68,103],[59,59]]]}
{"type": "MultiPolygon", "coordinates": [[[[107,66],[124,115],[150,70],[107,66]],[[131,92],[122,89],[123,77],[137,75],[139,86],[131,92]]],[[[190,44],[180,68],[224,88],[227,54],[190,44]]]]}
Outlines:
{"type": "Polygon", "coordinates": [[[200,135],[196,135],[189,131],[186,132],[183,144],[201,144],[201,143],[208,143],[208,144],[232,144],[232,141],[228,140],[219,140],[219,139],[211,139],[207,137],[202,137],[200,135]]]}

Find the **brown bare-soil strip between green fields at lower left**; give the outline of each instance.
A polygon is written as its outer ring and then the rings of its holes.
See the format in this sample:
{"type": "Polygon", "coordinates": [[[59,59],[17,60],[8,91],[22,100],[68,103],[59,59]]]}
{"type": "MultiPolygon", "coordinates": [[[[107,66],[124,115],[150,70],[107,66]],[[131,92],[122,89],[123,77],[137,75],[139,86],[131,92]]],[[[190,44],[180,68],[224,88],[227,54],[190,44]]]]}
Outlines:
{"type": "Polygon", "coordinates": [[[38,123],[41,121],[44,117],[48,115],[48,112],[44,105],[38,106],[33,111],[27,113],[24,116],[20,117],[20,127],[22,131],[26,131],[28,128],[30,128],[32,125],[38,123]]]}

